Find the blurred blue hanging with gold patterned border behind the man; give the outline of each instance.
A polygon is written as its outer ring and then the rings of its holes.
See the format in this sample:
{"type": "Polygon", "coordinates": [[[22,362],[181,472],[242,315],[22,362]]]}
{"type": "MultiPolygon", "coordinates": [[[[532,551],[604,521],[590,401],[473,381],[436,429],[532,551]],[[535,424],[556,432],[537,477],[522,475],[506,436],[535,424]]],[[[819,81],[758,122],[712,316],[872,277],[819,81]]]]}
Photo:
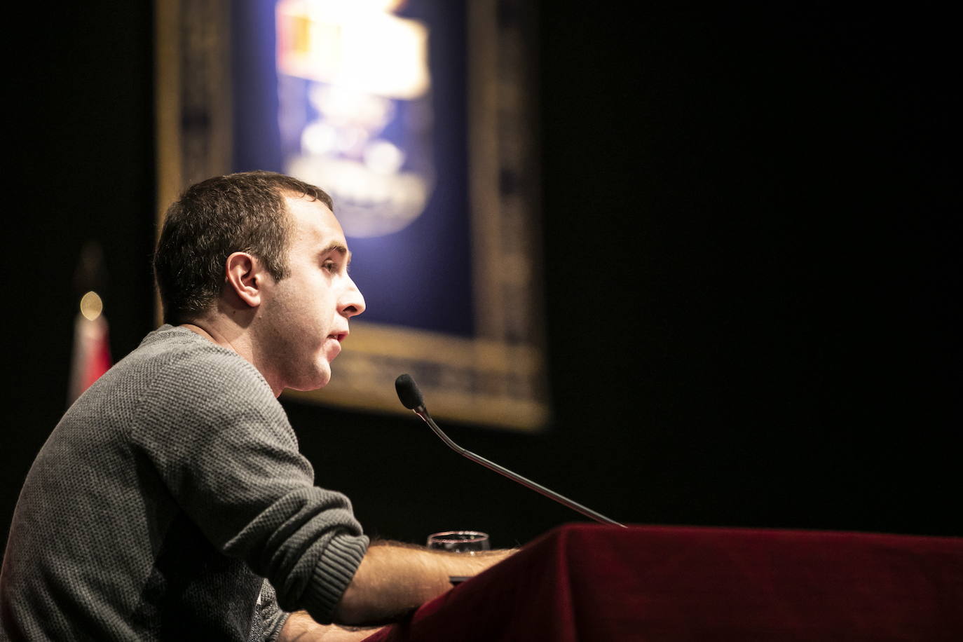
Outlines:
{"type": "Polygon", "coordinates": [[[286,396],[409,412],[407,372],[436,417],[547,423],[529,4],[157,3],[159,213],[270,169],[329,193],[351,246],[367,311],[286,396]]]}

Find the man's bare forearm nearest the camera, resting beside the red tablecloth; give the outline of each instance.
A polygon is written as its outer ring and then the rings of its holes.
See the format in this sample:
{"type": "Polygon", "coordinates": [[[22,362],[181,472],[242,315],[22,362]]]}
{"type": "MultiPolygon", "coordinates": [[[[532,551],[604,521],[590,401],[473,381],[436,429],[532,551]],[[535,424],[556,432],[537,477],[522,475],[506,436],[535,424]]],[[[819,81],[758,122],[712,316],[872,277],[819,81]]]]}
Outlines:
{"type": "Polygon", "coordinates": [[[432,551],[394,542],[375,542],[334,612],[336,622],[383,622],[441,595],[452,576],[474,576],[511,551],[432,551]]]}

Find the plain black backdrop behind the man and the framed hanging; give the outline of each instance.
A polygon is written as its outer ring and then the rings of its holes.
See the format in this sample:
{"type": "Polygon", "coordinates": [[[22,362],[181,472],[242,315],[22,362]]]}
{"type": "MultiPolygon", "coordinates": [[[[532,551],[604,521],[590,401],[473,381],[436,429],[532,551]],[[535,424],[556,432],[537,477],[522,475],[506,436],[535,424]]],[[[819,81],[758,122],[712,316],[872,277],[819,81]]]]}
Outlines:
{"type": "MultiPolygon", "coordinates": [[[[85,241],[115,357],[153,326],[152,24],[133,5],[68,4],[15,39],[4,532],[65,409],[85,241]]],[[[542,3],[555,420],[450,434],[627,523],[963,534],[954,22],[664,5],[542,3]]],[[[506,546],[581,520],[413,416],[285,405],[373,534],[506,546]]]]}

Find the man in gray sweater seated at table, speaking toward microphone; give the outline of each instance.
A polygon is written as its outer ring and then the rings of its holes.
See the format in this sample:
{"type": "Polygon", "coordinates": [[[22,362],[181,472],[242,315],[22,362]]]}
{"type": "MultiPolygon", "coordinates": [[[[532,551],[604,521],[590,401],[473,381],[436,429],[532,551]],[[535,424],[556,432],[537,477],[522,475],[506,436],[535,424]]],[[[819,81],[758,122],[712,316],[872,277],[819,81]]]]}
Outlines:
{"type": "Polygon", "coordinates": [[[276,397],[329,380],[365,308],[350,262],[330,198],[289,176],[221,176],[171,205],[166,324],[71,406],[21,491],[12,639],[360,639],[317,623],[386,621],[508,554],[369,547],[348,499],[314,486],[276,397]]]}

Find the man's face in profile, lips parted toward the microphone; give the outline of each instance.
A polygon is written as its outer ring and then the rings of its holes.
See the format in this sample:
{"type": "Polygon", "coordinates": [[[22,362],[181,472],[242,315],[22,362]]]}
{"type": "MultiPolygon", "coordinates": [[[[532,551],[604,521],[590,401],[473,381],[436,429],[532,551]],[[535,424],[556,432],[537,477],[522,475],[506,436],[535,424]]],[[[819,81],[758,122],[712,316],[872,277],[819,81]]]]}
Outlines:
{"type": "Polygon", "coordinates": [[[337,218],[321,201],[286,197],[291,217],[289,275],[269,278],[258,311],[266,377],[276,386],[316,390],[331,378],[331,361],[348,336],[348,320],[364,297],[348,275],[351,253],[337,218]]]}

